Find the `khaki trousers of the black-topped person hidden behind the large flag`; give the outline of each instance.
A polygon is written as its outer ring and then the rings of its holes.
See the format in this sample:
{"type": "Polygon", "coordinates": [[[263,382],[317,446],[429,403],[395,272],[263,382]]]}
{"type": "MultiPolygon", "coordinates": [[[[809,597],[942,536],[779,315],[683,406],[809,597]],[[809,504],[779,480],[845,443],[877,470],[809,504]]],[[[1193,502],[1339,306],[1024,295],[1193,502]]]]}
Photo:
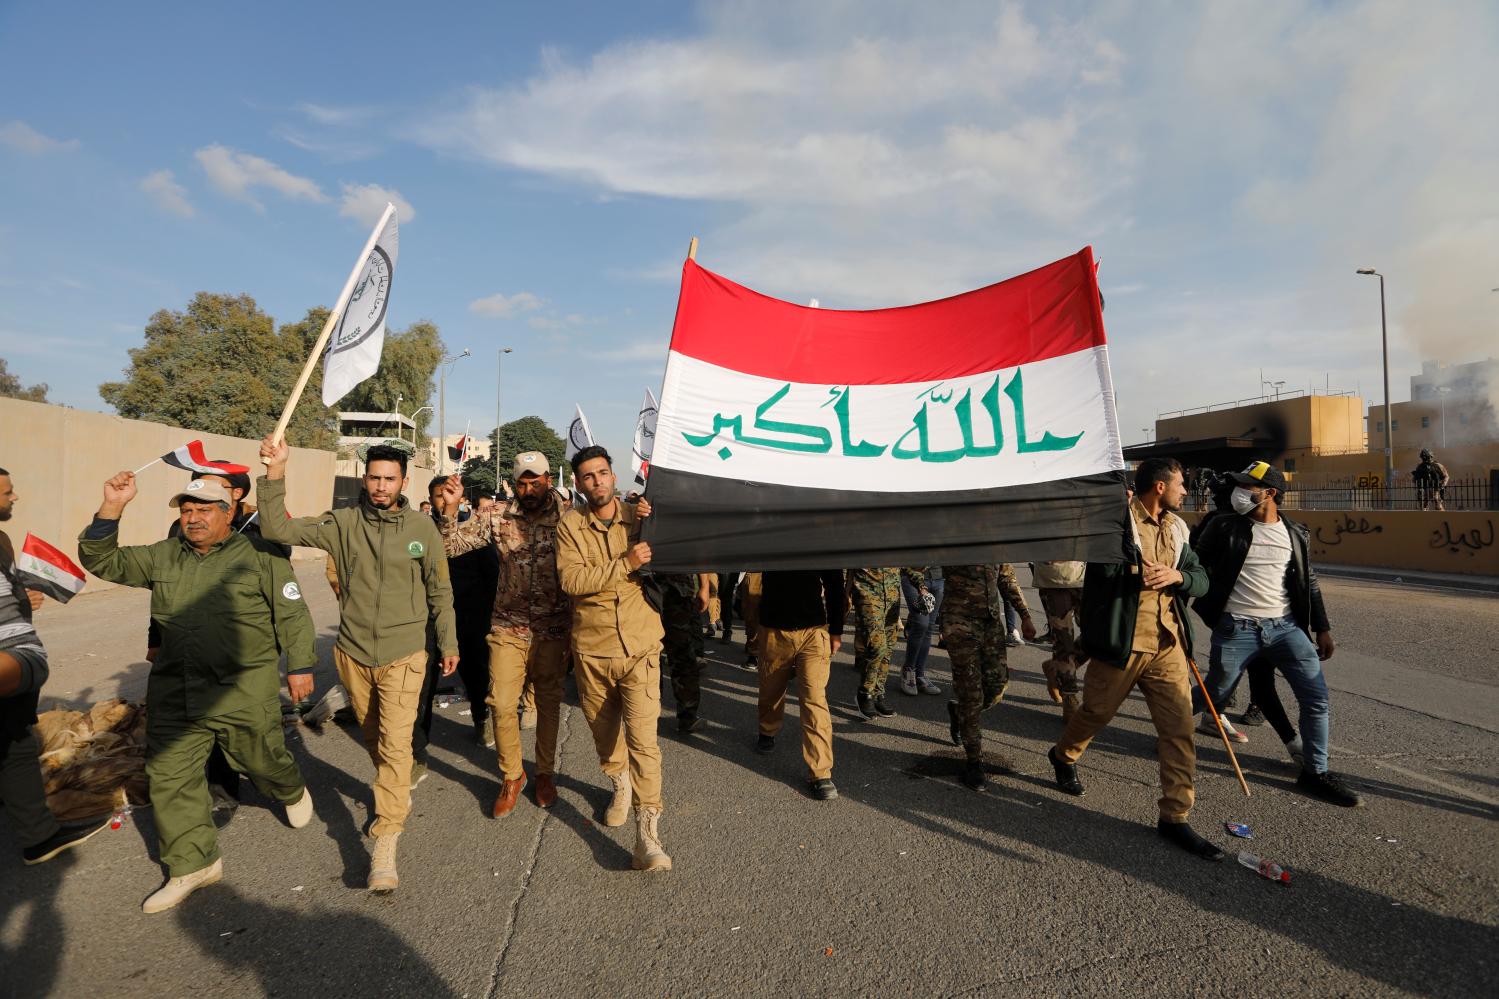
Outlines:
{"type": "Polygon", "coordinates": [[[791,669],[800,684],[802,759],[812,780],[833,776],[833,718],[827,711],[827,672],[833,644],[827,628],[760,628],[760,735],[775,736],[785,716],[791,669]]]}

